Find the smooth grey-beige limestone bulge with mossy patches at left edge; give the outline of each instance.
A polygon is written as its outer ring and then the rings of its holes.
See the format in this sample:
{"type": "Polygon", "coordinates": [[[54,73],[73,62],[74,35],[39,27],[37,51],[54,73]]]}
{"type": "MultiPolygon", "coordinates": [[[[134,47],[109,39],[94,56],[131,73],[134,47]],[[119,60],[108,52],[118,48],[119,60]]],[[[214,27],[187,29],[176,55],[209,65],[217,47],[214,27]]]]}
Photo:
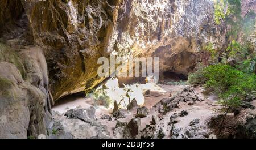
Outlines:
{"type": "Polygon", "coordinates": [[[46,135],[52,97],[42,49],[0,44],[0,138],[46,135]]]}

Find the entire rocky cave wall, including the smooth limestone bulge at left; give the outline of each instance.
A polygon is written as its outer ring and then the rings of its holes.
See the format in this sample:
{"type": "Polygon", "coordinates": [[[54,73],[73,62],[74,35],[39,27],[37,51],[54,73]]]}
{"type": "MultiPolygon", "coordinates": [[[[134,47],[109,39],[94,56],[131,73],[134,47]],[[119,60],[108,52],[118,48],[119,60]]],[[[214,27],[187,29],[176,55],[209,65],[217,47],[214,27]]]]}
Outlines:
{"type": "Polygon", "coordinates": [[[0,135],[44,134],[51,100],[102,82],[97,59],[114,50],[187,74],[201,46],[225,45],[213,13],[211,0],[2,0],[0,135]]]}

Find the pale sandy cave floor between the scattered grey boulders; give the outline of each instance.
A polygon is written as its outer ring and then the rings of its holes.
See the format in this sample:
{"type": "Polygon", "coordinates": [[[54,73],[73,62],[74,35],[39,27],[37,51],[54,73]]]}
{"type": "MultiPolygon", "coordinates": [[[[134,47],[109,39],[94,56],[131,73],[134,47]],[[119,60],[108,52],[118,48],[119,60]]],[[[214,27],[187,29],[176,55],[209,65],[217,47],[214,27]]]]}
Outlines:
{"type": "MultiPolygon", "coordinates": [[[[165,91],[161,95],[151,95],[144,96],[145,98],[145,106],[150,109],[150,113],[147,117],[141,119],[141,130],[146,127],[146,125],[150,125],[150,121],[152,121],[152,115],[156,115],[160,119],[160,125],[164,128],[164,132],[170,131],[168,128],[169,118],[174,113],[180,113],[182,110],[187,110],[188,115],[184,117],[179,117],[178,123],[175,125],[182,128],[189,126],[189,123],[196,118],[200,119],[200,126],[207,128],[206,121],[210,117],[213,117],[216,114],[216,110],[220,109],[221,106],[216,105],[217,97],[214,95],[208,95],[207,97],[203,94],[203,88],[197,87],[195,88],[195,93],[199,96],[200,101],[193,102],[192,106],[189,106],[188,103],[180,102],[179,108],[175,108],[174,111],[168,112],[164,117],[161,117],[162,114],[158,113],[154,105],[157,104],[163,98],[170,97],[170,95],[175,95],[177,92],[180,92],[184,85],[166,85],[166,84],[156,84],[161,88],[162,91],[165,91]]],[[[53,111],[57,111],[59,113],[65,113],[69,109],[76,108],[77,106],[81,106],[81,108],[88,108],[92,106],[92,100],[90,98],[85,97],[69,97],[64,102],[59,105],[56,105],[52,108],[53,111]]],[[[96,108],[96,118],[101,121],[102,125],[107,125],[109,131],[113,131],[116,125],[116,121],[112,119],[112,121],[102,120],[101,116],[103,114],[111,114],[111,109],[106,109],[103,106],[96,108]]],[[[126,118],[121,118],[119,121],[130,121],[131,118],[134,117],[136,112],[129,112],[126,118]]],[[[113,132],[110,132],[110,136],[113,137],[113,132]]],[[[168,134],[166,135],[168,138],[168,134]]]]}

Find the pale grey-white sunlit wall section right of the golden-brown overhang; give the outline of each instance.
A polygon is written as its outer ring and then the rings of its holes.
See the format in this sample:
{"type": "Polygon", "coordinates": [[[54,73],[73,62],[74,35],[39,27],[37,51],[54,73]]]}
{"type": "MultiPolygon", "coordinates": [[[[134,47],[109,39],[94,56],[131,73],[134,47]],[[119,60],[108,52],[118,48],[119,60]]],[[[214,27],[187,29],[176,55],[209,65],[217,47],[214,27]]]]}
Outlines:
{"type": "Polygon", "coordinates": [[[202,46],[212,42],[221,48],[225,43],[213,6],[205,0],[123,1],[109,49],[159,57],[160,71],[186,75],[202,46]]]}

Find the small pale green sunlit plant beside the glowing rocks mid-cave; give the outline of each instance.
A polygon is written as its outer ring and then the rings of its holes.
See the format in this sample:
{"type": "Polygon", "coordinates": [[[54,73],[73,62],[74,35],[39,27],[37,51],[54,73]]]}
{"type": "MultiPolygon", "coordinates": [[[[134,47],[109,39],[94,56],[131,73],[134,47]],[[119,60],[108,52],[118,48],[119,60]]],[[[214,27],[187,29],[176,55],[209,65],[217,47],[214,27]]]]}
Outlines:
{"type": "Polygon", "coordinates": [[[103,105],[106,108],[109,108],[111,104],[111,99],[106,95],[106,91],[104,89],[92,90],[90,93],[86,94],[87,98],[92,98],[94,100],[95,106],[103,105]]]}

